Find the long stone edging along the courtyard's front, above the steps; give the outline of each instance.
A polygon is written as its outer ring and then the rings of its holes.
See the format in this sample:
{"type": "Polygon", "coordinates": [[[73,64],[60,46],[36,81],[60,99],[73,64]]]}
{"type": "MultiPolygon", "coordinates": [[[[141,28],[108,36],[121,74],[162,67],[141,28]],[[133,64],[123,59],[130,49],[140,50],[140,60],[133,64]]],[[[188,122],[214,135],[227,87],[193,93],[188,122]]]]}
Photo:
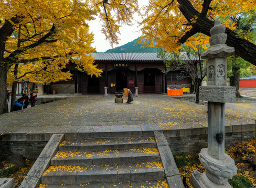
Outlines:
{"type": "MultiPolygon", "coordinates": [[[[207,135],[207,127],[183,128],[166,130],[158,128],[157,125],[120,125],[120,126],[98,126],[98,127],[80,127],[77,131],[63,132],[62,127],[58,130],[49,130],[41,133],[4,133],[1,142],[24,141],[24,142],[41,142],[50,140],[54,134],[63,134],[65,139],[88,139],[88,138],[121,138],[121,137],[147,137],[154,136],[154,132],[163,133],[166,137],[186,137],[207,135]]],[[[255,124],[243,124],[243,132],[255,131],[255,124]]],[[[225,134],[240,133],[241,125],[226,125],[225,134]]]]}

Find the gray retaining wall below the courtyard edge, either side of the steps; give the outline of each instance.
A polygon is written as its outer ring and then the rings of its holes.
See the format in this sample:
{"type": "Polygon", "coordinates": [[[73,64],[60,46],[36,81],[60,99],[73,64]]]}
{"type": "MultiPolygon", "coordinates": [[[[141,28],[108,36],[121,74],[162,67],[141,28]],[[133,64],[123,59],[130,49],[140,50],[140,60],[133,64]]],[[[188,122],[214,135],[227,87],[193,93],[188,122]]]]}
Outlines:
{"type": "MultiPolygon", "coordinates": [[[[241,125],[226,126],[225,145],[241,142],[241,125]]],[[[199,152],[207,147],[207,128],[189,128],[183,130],[154,130],[163,133],[174,154],[179,152],[199,152]]],[[[51,135],[47,134],[5,134],[1,140],[1,149],[5,152],[20,154],[27,159],[36,159],[47,144],[51,135]]],[[[77,133],[65,133],[66,138],[74,138],[77,133]]],[[[83,133],[78,133],[83,134],[83,133]]],[[[137,134],[153,136],[154,132],[140,132],[137,134]]],[[[99,135],[98,135],[99,136],[99,135]]],[[[86,138],[86,137],[85,137],[86,138]]],[[[243,125],[243,141],[254,138],[254,124],[243,125]]],[[[75,139],[75,138],[74,138],[75,139]]]]}

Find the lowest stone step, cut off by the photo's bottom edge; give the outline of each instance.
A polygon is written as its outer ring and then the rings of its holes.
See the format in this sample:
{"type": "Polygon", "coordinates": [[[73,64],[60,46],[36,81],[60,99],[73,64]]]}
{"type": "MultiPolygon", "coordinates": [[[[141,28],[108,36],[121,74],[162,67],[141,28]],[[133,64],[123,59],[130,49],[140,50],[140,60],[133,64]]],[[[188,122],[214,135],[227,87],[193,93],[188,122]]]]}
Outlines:
{"type": "Polygon", "coordinates": [[[38,188],[99,188],[99,187],[108,187],[108,188],[141,188],[141,187],[162,187],[168,188],[166,180],[158,181],[123,181],[123,182],[93,182],[87,184],[48,184],[40,185],[38,188]]]}

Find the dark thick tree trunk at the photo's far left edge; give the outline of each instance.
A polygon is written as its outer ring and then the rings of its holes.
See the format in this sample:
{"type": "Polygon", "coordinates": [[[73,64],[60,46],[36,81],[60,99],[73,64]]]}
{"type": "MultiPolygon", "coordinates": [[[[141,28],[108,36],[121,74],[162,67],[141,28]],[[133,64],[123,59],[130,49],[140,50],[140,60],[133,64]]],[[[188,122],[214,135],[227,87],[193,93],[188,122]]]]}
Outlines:
{"type": "Polygon", "coordinates": [[[7,69],[0,65],[0,114],[8,112],[7,90],[6,90],[7,69]]]}

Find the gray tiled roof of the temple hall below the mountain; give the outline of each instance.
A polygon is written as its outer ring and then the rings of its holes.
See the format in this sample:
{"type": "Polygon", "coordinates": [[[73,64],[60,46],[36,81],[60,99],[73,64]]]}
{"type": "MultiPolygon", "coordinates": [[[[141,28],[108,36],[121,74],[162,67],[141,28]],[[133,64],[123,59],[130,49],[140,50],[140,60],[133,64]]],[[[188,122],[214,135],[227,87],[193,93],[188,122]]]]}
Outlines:
{"type": "Polygon", "coordinates": [[[161,61],[157,53],[92,53],[96,61],[161,61]]]}

